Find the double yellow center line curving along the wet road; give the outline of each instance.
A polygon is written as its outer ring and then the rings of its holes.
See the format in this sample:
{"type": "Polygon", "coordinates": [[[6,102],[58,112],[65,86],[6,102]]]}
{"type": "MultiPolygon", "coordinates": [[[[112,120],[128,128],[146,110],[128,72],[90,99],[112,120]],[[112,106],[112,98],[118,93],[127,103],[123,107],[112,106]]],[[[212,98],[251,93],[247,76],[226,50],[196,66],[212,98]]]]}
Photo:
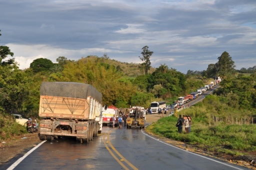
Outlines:
{"type": "MultiPolygon", "coordinates": [[[[114,130],[114,129],[112,129],[114,130]]],[[[109,134],[112,130],[109,130],[107,133],[105,133],[103,135],[103,141],[104,141],[104,145],[106,147],[106,149],[108,150],[108,152],[113,156],[113,158],[124,168],[124,169],[129,169],[128,167],[126,167],[115,155],[114,153],[110,150],[110,148],[107,146],[107,143],[109,144],[109,146],[112,148],[112,150],[125,162],[127,163],[132,169],[138,170],[138,168],[136,168],[133,164],[131,164],[127,159],[125,159],[116,149],[115,147],[112,145],[112,143],[109,140],[109,134]],[[107,141],[105,141],[105,135],[107,134],[107,141]]]]}

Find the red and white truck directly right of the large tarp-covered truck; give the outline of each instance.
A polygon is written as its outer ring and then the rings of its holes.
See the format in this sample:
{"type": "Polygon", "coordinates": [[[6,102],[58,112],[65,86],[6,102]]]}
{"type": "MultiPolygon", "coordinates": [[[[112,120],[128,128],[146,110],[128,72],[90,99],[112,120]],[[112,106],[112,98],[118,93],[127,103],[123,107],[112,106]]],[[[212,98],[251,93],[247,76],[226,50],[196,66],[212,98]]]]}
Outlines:
{"type": "Polygon", "coordinates": [[[103,125],[112,124],[113,116],[118,116],[118,108],[116,108],[114,105],[110,105],[106,107],[106,109],[104,107],[102,108],[103,125]]]}

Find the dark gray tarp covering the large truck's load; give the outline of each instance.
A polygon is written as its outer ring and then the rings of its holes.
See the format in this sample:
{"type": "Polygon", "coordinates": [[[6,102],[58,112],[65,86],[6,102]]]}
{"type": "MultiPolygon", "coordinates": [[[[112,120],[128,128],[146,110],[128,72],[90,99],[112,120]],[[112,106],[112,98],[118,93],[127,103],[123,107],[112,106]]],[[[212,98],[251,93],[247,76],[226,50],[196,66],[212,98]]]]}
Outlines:
{"type": "Polygon", "coordinates": [[[101,103],[102,94],[90,84],[79,82],[42,82],[40,95],[84,98],[92,96],[101,103]]]}

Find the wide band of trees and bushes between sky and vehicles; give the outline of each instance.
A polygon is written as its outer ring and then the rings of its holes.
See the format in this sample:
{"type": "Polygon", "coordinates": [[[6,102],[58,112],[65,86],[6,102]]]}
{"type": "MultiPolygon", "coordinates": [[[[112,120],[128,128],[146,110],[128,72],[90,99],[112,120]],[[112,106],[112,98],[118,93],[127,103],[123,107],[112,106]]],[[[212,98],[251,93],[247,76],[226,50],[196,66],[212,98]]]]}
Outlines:
{"type": "Polygon", "coordinates": [[[0,46],[0,112],[37,116],[42,81],[88,83],[102,93],[102,104],[148,107],[153,100],[164,99],[171,103],[178,96],[212,81],[213,75],[223,78],[221,88],[215,92],[222,102],[238,109],[255,109],[255,71],[237,75],[234,62],[226,51],[205,71],[188,70],[187,74],[168,68],[164,63],[152,68],[149,59],[152,53],[148,46],[144,46],[141,64],[119,62],[110,59],[106,53],[101,57],[90,55],[78,60],[59,56],[56,63],[37,58],[29,68],[21,70],[14,58],[3,61],[13,53],[7,46],[0,46]],[[133,75],[129,74],[131,71],[133,75]]]}

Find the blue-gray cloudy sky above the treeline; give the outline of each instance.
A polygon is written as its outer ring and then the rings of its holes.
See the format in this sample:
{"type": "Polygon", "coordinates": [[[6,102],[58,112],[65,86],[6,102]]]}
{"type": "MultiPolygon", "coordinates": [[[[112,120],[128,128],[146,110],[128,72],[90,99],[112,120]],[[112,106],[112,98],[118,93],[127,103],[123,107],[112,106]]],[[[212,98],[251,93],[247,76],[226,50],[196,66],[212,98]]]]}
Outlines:
{"type": "Polygon", "coordinates": [[[152,67],[182,73],[224,51],[235,69],[256,65],[256,0],[0,0],[0,30],[20,69],[104,53],[141,63],[145,45],[152,67]]]}

